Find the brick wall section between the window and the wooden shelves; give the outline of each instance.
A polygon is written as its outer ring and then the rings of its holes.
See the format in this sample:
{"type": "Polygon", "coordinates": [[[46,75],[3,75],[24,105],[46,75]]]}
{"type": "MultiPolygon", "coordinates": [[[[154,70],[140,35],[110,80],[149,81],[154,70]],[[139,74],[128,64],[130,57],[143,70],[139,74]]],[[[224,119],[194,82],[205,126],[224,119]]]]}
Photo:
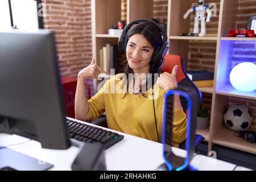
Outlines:
{"type": "Polygon", "coordinates": [[[61,75],[77,76],[92,59],[90,0],[43,0],[44,28],[55,32],[61,75]]]}

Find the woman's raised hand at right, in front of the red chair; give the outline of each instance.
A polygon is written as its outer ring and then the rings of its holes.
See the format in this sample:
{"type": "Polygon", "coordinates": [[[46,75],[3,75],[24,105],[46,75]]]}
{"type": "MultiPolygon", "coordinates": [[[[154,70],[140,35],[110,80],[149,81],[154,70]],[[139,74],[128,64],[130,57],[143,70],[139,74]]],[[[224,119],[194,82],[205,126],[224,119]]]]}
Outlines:
{"type": "Polygon", "coordinates": [[[176,81],[176,73],[177,73],[178,65],[175,65],[172,69],[172,73],[164,72],[158,77],[156,84],[159,85],[160,88],[164,89],[165,92],[169,90],[177,88],[177,81],[176,81]]]}

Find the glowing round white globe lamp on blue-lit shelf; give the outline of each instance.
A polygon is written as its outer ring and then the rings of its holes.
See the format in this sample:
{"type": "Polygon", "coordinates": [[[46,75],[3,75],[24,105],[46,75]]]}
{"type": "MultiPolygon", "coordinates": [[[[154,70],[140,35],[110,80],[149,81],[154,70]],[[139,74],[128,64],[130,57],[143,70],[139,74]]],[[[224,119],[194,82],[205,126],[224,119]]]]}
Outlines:
{"type": "Polygon", "coordinates": [[[232,86],[242,92],[253,92],[256,90],[256,65],[245,62],[236,65],[229,76],[232,86]]]}

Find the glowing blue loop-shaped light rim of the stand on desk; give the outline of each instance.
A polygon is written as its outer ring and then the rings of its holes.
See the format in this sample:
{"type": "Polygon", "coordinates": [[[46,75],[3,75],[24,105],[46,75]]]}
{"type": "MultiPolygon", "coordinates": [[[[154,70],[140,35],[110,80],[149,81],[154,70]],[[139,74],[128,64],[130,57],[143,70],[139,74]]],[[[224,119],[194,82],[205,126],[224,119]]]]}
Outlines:
{"type": "Polygon", "coordinates": [[[179,168],[176,169],[176,171],[181,171],[185,168],[188,167],[189,165],[189,140],[190,140],[190,127],[191,127],[191,98],[188,96],[187,93],[182,92],[182,91],[177,91],[177,90],[170,90],[169,92],[166,93],[166,95],[164,96],[164,113],[163,113],[163,127],[162,127],[162,143],[163,143],[163,158],[164,158],[164,163],[166,164],[167,168],[169,171],[172,171],[172,166],[171,164],[168,162],[168,160],[166,159],[166,155],[164,154],[164,145],[165,145],[165,140],[166,140],[166,103],[167,103],[167,98],[171,95],[179,95],[179,96],[183,96],[186,98],[186,100],[188,101],[188,108],[187,108],[187,131],[186,131],[186,141],[185,141],[185,149],[187,151],[187,156],[185,158],[185,162],[183,164],[183,166],[180,166],[179,168]]]}

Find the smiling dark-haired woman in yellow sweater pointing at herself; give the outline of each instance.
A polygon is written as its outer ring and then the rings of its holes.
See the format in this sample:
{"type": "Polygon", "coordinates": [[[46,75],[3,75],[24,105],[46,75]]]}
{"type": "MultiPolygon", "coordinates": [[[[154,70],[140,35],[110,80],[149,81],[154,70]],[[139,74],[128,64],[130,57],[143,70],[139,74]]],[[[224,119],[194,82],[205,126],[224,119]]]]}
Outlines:
{"type": "MultiPolygon", "coordinates": [[[[96,78],[106,73],[92,59],[90,65],[78,74],[75,98],[76,119],[88,121],[106,112],[108,127],[137,137],[161,141],[164,93],[177,87],[177,66],[172,73],[163,73],[150,84],[148,73],[152,69],[152,56],[163,44],[162,34],[156,24],[142,22],[127,32],[125,73],[113,76],[89,101],[85,96],[85,78],[96,78]],[[129,79],[133,73],[133,78],[129,79]],[[115,85],[113,91],[113,86],[115,85]],[[147,85],[152,85],[150,88],[147,85]],[[146,92],[142,92],[146,88],[146,92]],[[122,92],[118,92],[120,89],[122,92]],[[110,92],[111,90],[111,92],[110,92]],[[150,99],[152,95],[153,99],[150,99]]],[[[172,146],[179,147],[185,139],[186,118],[179,97],[174,100],[172,146]]]]}

